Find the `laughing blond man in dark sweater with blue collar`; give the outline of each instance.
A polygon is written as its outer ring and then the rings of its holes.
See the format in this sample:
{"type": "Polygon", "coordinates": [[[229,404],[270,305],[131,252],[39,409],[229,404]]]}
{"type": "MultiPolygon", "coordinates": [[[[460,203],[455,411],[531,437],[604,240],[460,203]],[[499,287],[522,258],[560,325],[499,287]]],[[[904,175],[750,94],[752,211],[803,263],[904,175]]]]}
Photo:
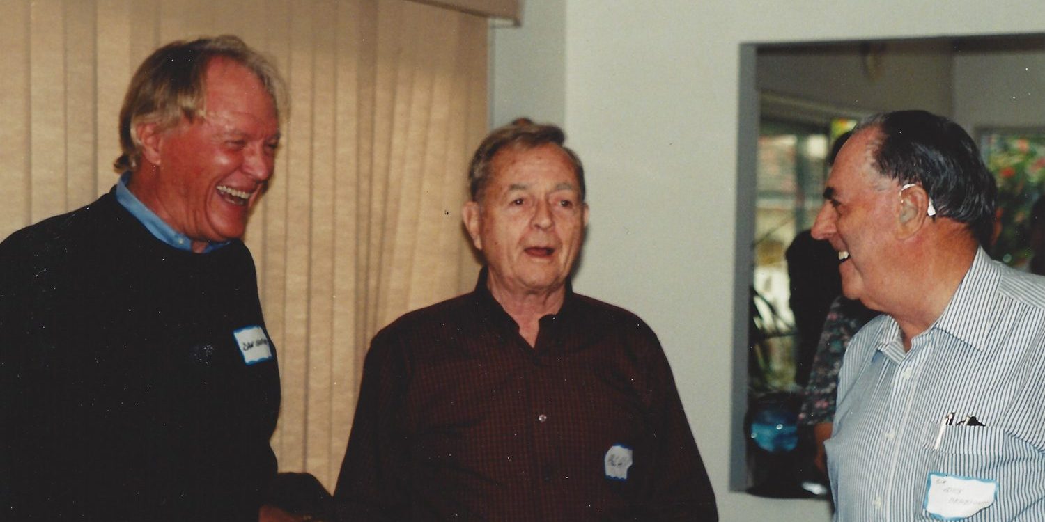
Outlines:
{"type": "Polygon", "coordinates": [[[0,520],[258,519],[279,373],[239,238],[281,99],[235,37],[157,50],[119,183],[0,243],[0,520]]]}

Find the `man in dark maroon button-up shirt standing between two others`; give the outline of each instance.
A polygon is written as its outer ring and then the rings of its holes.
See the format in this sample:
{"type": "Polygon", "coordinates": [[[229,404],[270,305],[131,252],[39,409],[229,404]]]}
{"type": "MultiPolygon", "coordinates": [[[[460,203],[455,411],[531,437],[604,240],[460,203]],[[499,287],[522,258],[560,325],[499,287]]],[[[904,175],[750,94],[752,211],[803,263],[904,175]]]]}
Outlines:
{"type": "Polygon", "coordinates": [[[656,336],[571,288],[588,208],[563,141],[524,120],[475,151],[462,214],[486,267],[374,337],[342,520],[718,519],[656,336]]]}

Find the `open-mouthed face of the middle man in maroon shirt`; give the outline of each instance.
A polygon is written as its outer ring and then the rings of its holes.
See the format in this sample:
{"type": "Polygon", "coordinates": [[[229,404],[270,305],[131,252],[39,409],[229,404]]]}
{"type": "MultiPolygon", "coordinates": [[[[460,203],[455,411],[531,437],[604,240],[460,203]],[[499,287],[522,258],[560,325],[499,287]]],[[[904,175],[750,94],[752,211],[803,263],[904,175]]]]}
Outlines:
{"type": "Polygon", "coordinates": [[[513,295],[563,287],[584,238],[587,206],[566,153],[554,144],[493,157],[465,227],[490,268],[491,289],[513,295]]]}

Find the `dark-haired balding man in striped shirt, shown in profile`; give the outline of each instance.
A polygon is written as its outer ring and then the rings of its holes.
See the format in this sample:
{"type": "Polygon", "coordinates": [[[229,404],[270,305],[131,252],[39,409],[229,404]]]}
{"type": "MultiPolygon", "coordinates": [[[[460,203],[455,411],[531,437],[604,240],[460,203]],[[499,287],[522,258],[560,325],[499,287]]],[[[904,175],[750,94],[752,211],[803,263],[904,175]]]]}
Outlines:
{"type": "Polygon", "coordinates": [[[831,170],[813,235],[884,312],[839,376],[836,520],[1045,520],[1045,279],[980,247],[995,193],[969,135],[923,111],[861,122],[831,170]]]}

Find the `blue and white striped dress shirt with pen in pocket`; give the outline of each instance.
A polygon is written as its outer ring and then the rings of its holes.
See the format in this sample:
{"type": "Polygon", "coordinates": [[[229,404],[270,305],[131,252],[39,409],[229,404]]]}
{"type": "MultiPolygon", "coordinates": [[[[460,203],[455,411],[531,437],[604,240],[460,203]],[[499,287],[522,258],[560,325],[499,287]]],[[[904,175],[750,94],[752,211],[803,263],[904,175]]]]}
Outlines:
{"type": "Polygon", "coordinates": [[[827,452],[839,521],[1045,521],[1045,278],[980,250],[910,351],[891,317],[868,323],[827,452]]]}

